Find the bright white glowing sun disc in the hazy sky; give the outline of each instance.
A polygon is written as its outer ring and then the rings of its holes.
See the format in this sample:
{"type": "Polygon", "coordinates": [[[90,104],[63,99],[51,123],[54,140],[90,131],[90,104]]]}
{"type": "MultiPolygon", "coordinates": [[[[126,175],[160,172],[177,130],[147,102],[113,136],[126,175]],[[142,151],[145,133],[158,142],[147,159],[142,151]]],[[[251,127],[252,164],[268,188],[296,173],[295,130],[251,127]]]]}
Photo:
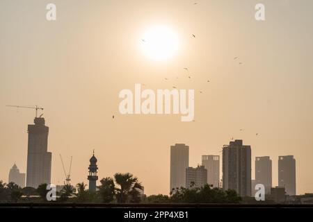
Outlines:
{"type": "Polygon", "coordinates": [[[142,48],[153,60],[167,60],[177,53],[179,41],[174,32],[165,26],[148,29],[142,37],[142,48]]]}

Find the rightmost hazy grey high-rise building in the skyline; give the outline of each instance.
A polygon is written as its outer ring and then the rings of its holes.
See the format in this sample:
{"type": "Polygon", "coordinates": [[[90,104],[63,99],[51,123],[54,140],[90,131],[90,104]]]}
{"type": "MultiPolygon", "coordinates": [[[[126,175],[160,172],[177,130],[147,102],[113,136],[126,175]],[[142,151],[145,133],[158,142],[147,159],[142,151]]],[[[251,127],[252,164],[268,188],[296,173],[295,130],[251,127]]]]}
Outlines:
{"type": "Polygon", "coordinates": [[[293,155],[278,157],[278,186],[284,187],[286,194],[296,195],[296,160],[293,155]]]}

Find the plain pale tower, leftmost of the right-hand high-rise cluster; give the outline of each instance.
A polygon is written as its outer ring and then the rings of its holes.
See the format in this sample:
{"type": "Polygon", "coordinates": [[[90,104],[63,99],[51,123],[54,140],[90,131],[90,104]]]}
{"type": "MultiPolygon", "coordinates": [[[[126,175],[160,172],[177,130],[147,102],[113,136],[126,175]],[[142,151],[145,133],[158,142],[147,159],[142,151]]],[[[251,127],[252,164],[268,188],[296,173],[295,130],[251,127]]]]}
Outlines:
{"type": "Polygon", "coordinates": [[[189,146],[170,146],[170,191],[186,185],[186,168],[189,167],[189,146]]]}

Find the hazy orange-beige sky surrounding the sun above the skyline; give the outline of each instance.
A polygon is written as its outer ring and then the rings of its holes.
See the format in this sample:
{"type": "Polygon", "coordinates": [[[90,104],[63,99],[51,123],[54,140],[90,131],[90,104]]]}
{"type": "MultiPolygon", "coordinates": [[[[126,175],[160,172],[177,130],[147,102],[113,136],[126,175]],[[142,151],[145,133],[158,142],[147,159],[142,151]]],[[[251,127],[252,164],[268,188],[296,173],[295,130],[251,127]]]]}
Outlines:
{"type": "Polygon", "coordinates": [[[251,145],[252,178],[255,156],[270,155],[278,185],[278,155],[294,155],[297,194],[312,193],[312,9],[311,0],[1,0],[0,179],[14,162],[26,172],[35,114],[6,105],[42,105],[55,184],[64,180],[59,153],[67,167],[73,156],[72,183],[88,182],[95,148],[99,178],[131,172],[146,194],[168,194],[170,145],[188,144],[195,167],[234,137],[251,145]],[[56,4],[55,22],[46,20],[47,3],[56,4]],[[264,22],[255,20],[256,3],[266,7],[264,22]],[[141,39],[160,25],[179,48],[154,61],[141,39]],[[195,89],[195,122],[119,114],[118,93],[135,83],[195,89]]]}

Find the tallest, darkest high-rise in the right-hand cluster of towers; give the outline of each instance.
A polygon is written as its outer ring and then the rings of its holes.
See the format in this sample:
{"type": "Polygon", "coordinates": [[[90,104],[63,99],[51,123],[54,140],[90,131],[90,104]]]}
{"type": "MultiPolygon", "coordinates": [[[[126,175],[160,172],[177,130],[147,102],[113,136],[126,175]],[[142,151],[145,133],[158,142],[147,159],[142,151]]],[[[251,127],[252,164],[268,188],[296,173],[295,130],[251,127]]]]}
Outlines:
{"type": "Polygon", "coordinates": [[[251,147],[241,139],[223,146],[223,189],[251,196],[251,147]]]}

